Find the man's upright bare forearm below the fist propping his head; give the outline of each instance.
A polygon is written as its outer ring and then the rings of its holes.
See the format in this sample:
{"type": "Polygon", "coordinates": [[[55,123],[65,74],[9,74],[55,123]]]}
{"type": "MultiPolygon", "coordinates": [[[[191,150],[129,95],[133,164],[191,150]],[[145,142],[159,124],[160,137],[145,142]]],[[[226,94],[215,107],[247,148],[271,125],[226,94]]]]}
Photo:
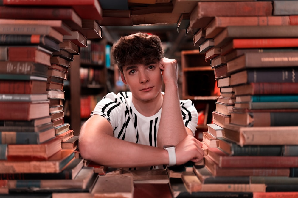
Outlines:
{"type": "Polygon", "coordinates": [[[157,137],[159,147],[168,144],[176,145],[187,135],[181,115],[177,86],[166,85],[164,93],[162,115],[157,137]]]}

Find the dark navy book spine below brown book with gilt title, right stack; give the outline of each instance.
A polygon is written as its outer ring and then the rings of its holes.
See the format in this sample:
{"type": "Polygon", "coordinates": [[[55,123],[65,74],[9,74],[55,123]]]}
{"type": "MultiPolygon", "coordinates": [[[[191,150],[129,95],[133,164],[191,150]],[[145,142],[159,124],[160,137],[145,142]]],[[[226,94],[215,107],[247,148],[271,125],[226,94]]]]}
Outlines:
{"type": "Polygon", "coordinates": [[[295,68],[285,68],[282,70],[254,69],[247,71],[248,83],[295,83],[295,68]]]}

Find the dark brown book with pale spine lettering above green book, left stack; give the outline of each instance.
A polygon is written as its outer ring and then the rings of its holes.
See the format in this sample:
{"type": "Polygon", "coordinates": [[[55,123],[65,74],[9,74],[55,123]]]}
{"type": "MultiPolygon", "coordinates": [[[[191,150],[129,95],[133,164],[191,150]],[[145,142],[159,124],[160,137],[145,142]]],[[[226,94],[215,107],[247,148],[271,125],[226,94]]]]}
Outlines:
{"type": "Polygon", "coordinates": [[[1,74],[24,74],[47,77],[48,66],[35,62],[0,61],[1,74]]]}

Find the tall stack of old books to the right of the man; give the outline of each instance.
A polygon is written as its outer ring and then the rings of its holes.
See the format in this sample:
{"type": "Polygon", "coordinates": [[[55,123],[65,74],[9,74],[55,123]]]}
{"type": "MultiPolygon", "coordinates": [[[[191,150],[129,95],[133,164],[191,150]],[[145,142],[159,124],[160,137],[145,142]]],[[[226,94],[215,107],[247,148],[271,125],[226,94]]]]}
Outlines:
{"type": "Polygon", "coordinates": [[[214,68],[221,96],[203,133],[204,165],[182,173],[181,192],[298,196],[297,6],[199,1],[191,12],[194,44],[214,68]]]}

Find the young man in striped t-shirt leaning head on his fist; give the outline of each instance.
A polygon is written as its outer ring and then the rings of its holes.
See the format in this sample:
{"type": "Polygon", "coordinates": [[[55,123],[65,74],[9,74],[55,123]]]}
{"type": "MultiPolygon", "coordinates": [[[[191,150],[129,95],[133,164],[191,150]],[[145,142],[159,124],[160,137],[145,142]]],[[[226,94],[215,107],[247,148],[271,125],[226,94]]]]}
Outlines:
{"type": "Polygon", "coordinates": [[[160,38],[121,37],[111,52],[130,92],[109,93],[98,102],[80,131],[82,157],[109,167],[151,169],[200,161],[202,145],[193,137],[198,113],[191,100],[179,100],[177,61],[163,58],[160,38]]]}

